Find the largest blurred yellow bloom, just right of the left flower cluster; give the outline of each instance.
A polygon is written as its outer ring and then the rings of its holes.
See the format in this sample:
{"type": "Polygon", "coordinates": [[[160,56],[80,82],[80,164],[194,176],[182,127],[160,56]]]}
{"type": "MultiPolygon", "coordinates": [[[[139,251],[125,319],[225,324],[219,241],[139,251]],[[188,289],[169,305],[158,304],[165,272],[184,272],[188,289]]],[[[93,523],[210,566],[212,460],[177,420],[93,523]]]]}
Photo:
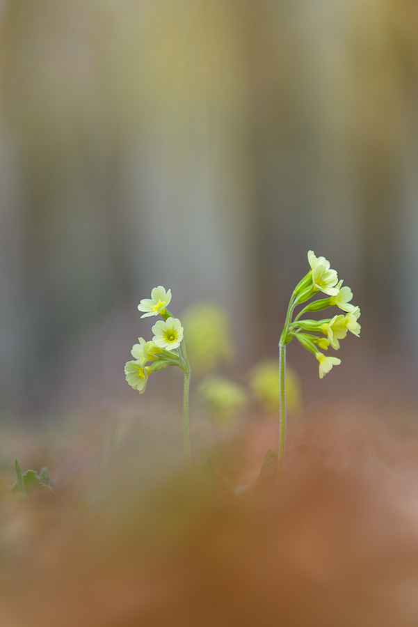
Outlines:
{"type": "Polygon", "coordinates": [[[193,372],[213,371],[234,355],[227,312],[211,302],[198,302],[182,314],[187,354],[193,372]]]}

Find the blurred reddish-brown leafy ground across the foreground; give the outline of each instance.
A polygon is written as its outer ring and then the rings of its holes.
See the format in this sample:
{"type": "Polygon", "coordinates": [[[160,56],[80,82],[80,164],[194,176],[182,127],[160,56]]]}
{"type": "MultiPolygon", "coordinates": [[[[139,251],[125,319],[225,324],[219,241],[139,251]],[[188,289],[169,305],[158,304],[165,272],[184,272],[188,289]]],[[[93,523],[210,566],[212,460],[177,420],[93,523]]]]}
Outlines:
{"type": "Polygon", "coordinates": [[[353,420],[300,421],[280,487],[259,420],[192,498],[175,472],[140,493],[122,456],[99,506],[4,497],[1,627],[416,627],[416,434],[353,420]]]}

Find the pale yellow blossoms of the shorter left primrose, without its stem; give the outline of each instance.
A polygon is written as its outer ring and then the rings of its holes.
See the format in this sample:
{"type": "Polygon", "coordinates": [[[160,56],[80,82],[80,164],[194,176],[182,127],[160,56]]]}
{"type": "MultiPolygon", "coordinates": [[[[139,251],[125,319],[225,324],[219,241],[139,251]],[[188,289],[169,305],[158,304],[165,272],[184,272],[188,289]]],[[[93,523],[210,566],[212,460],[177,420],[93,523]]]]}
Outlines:
{"type": "Polygon", "coordinates": [[[154,337],[152,341],[138,338],[138,344],[134,344],[131,355],[134,361],[127,362],[124,373],[131,387],[137,389],[140,394],[145,392],[148,377],[151,373],[163,370],[168,366],[183,366],[182,356],[177,351],[183,340],[183,327],[178,318],[173,318],[167,310],[171,300],[171,291],[166,292],[163,286],[154,288],[151,298],[145,298],[138,304],[139,311],[145,311],[141,318],[149,316],[162,316],[152,327],[154,337]],[[147,362],[154,362],[147,366],[147,362]]]}

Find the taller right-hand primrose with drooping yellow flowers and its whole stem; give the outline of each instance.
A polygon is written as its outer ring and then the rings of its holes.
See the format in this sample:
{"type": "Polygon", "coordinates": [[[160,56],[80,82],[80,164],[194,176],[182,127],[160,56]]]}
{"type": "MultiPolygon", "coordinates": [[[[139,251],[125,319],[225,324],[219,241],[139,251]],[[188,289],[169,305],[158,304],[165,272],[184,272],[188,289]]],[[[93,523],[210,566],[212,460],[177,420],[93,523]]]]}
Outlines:
{"type": "Polygon", "coordinates": [[[279,421],[279,450],[278,476],[282,477],[284,465],[284,449],[286,444],[287,405],[286,405],[286,347],[296,337],[300,344],[319,361],[319,378],[330,372],[332,366],[341,364],[341,359],[328,357],[321,353],[329,346],[339,349],[339,339],[344,339],[348,331],[357,337],[360,336],[360,309],[350,304],[353,294],[348,287],[342,287],[343,281],[338,281],[337,272],[330,268],[330,262],[325,257],[316,257],[314,251],[307,254],[310,271],[298,283],[287,308],[286,320],[279,341],[279,376],[280,376],[280,421],[279,421]],[[311,300],[316,293],[322,292],[328,298],[311,300]],[[294,318],[294,311],[299,304],[310,301],[294,318]],[[306,320],[301,317],[310,311],[321,311],[328,307],[337,306],[346,312],[345,316],[337,315],[325,320],[306,320]]]}

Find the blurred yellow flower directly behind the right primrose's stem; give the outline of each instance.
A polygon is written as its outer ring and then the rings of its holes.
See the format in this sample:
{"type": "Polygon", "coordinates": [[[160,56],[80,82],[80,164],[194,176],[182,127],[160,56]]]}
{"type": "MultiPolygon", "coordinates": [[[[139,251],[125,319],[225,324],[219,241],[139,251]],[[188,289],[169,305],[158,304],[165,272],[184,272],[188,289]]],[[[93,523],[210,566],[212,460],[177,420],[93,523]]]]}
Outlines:
{"type": "MultiPolygon", "coordinates": [[[[279,364],[275,359],[260,362],[250,371],[250,387],[257,401],[268,412],[278,411],[280,402],[279,364]]],[[[287,369],[286,396],[289,409],[300,408],[300,383],[298,376],[287,369]]]]}

